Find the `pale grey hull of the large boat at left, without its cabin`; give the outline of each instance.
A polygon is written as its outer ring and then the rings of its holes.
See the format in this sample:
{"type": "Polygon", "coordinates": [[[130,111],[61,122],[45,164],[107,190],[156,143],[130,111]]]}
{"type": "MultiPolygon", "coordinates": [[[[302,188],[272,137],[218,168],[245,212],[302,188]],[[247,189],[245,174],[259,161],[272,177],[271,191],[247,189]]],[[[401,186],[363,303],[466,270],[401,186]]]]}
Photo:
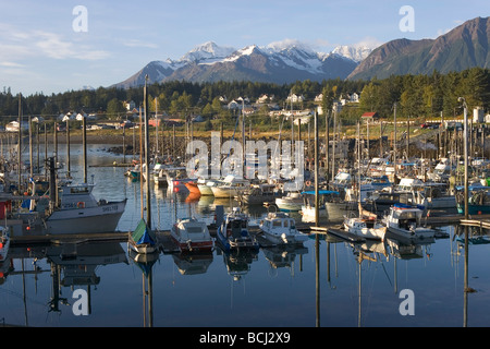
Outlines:
{"type": "Polygon", "coordinates": [[[126,201],[96,207],[54,210],[47,219],[49,233],[112,232],[124,213],[126,201]]]}

